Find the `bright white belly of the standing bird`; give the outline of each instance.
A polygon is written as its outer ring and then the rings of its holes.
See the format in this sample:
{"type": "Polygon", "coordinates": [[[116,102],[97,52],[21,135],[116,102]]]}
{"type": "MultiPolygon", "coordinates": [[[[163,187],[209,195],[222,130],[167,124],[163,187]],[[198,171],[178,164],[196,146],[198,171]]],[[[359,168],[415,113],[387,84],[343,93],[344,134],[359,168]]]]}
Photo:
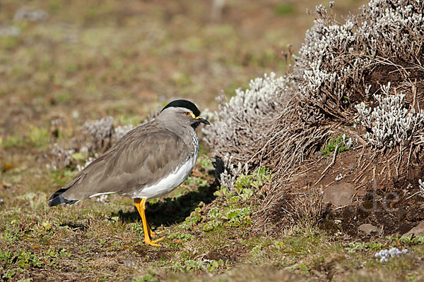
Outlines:
{"type": "Polygon", "coordinates": [[[194,168],[194,164],[196,164],[195,155],[192,159],[189,159],[185,164],[177,168],[175,171],[170,173],[167,177],[160,180],[155,185],[151,185],[143,188],[141,191],[134,192],[131,195],[132,198],[141,198],[141,199],[150,199],[155,197],[160,197],[165,195],[175,188],[177,188],[184,180],[189,176],[189,173],[194,168]]]}

